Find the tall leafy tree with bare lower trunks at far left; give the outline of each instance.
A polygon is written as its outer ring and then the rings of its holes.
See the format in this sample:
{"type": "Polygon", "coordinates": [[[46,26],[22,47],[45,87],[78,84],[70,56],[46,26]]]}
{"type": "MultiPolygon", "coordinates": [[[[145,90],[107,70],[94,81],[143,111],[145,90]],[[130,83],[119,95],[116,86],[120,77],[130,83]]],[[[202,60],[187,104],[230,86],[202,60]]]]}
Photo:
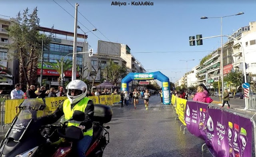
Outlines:
{"type": "Polygon", "coordinates": [[[18,59],[19,81],[27,88],[37,81],[37,65],[41,57],[42,40],[43,47],[49,48],[50,36],[40,34],[37,7],[31,14],[28,8],[23,13],[18,12],[13,25],[8,29],[10,38],[14,41],[8,47],[15,50],[11,56],[18,59]]]}

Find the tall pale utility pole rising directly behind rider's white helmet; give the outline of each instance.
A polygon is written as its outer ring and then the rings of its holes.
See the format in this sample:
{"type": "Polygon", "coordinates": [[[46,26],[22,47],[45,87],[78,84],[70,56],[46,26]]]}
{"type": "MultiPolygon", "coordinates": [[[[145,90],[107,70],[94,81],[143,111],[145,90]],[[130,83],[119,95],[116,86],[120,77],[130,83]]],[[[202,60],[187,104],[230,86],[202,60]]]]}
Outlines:
{"type": "Polygon", "coordinates": [[[72,65],[72,81],[76,79],[76,44],[77,44],[77,8],[79,4],[76,3],[75,11],[75,26],[74,26],[74,44],[73,44],[73,65],[72,65]]]}

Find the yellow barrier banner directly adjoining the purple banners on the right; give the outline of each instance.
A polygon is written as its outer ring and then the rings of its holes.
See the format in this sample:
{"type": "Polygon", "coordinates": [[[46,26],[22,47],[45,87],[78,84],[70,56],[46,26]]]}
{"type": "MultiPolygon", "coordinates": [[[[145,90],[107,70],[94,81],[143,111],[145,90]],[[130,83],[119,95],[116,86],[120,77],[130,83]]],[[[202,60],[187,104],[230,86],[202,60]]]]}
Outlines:
{"type": "Polygon", "coordinates": [[[186,111],[186,99],[182,99],[180,97],[176,98],[176,113],[179,116],[180,121],[186,125],[185,123],[185,111],[186,111]]]}

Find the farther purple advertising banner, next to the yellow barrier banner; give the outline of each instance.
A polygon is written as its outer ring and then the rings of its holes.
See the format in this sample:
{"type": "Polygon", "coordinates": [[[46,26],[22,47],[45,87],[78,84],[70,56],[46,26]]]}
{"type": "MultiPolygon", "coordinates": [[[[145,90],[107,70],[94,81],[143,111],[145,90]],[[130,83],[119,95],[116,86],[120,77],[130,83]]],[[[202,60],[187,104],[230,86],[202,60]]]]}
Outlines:
{"type": "Polygon", "coordinates": [[[206,119],[207,106],[204,103],[188,101],[186,106],[185,123],[188,131],[203,140],[206,139],[204,123],[206,119]]]}

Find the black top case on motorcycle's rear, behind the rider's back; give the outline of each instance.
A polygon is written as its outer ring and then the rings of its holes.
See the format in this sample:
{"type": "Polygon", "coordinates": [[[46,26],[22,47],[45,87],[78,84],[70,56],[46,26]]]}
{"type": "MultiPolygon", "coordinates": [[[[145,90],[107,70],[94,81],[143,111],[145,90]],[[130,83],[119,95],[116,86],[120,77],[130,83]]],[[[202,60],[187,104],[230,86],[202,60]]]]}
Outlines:
{"type": "Polygon", "coordinates": [[[108,123],[112,119],[112,113],[110,106],[94,104],[94,122],[108,123]]]}

